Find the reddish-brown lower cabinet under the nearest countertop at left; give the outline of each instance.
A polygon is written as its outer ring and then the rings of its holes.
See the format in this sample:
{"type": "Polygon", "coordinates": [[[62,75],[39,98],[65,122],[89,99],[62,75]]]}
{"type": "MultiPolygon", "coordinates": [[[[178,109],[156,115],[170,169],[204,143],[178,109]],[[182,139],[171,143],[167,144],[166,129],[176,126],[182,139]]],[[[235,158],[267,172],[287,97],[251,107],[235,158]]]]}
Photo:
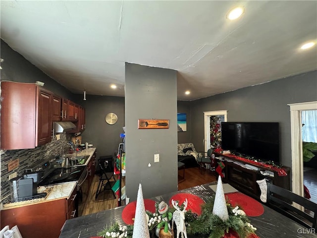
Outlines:
{"type": "Polygon", "coordinates": [[[17,225],[23,238],[58,238],[67,219],[77,217],[76,187],[69,199],[1,210],[1,229],[17,225]]]}

